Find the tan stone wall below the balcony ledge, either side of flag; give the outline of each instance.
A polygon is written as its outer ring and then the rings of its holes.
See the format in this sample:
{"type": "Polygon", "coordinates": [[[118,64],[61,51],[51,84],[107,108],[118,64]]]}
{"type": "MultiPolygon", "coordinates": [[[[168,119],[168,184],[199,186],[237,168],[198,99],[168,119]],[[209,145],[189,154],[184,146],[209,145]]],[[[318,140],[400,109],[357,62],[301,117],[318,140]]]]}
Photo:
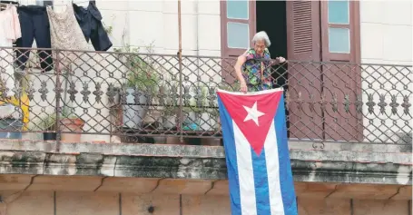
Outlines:
{"type": "MultiPolygon", "coordinates": [[[[230,215],[228,181],[0,174],[0,215],[230,215]],[[180,213],[182,211],[182,213],[180,213]]],[[[411,185],[295,182],[300,215],[411,215],[411,185]]]]}

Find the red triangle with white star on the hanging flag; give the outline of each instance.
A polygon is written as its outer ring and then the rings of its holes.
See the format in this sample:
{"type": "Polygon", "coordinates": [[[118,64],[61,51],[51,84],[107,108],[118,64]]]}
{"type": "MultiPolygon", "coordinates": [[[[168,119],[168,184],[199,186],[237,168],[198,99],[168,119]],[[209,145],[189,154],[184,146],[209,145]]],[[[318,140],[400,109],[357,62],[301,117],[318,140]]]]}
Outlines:
{"type": "Polygon", "coordinates": [[[283,92],[253,95],[221,91],[217,93],[232,120],[250,142],[252,149],[260,155],[283,92]]]}

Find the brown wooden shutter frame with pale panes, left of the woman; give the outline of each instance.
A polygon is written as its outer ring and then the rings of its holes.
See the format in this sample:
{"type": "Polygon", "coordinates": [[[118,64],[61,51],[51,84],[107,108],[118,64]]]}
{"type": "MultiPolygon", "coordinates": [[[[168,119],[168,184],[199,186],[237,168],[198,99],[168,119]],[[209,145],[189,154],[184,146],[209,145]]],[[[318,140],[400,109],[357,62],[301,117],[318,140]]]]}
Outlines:
{"type": "Polygon", "coordinates": [[[255,15],[255,0],[249,1],[249,18],[248,19],[231,19],[227,17],[227,1],[221,1],[221,77],[225,83],[232,84],[235,82],[236,77],[234,73],[233,66],[236,63],[236,58],[243,54],[246,51],[246,48],[239,49],[239,48],[231,48],[228,45],[228,32],[227,32],[227,24],[228,22],[232,23],[241,23],[241,24],[249,24],[249,38],[250,41],[254,34],[256,33],[256,15],[255,15]]]}

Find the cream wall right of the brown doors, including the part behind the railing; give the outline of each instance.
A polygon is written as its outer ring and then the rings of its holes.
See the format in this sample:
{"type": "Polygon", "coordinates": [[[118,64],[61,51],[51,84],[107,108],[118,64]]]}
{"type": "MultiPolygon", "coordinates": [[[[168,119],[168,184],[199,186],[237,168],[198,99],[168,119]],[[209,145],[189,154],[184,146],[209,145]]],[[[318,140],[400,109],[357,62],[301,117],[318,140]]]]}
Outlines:
{"type": "MultiPolygon", "coordinates": [[[[412,4],[411,1],[360,1],[362,63],[412,64],[412,4]]],[[[392,103],[392,96],[395,96],[398,104],[403,103],[404,96],[409,96],[411,103],[411,68],[366,65],[364,69],[364,81],[361,83],[363,103],[368,102],[369,94],[373,96],[374,103],[379,103],[380,94],[384,95],[387,105],[392,103]]],[[[401,105],[396,109],[397,114],[393,114],[391,108],[386,106],[385,113],[381,113],[376,105],[374,112],[369,113],[368,106],[363,105],[366,116],[363,125],[369,140],[377,138],[377,141],[393,142],[408,138],[409,133],[408,140],[411,142],[411,129],[408,130],[405,124],[411,116],[403,112],[401,105]]],[[[413,112],[411,106],[409,110],[413,112]]]]}

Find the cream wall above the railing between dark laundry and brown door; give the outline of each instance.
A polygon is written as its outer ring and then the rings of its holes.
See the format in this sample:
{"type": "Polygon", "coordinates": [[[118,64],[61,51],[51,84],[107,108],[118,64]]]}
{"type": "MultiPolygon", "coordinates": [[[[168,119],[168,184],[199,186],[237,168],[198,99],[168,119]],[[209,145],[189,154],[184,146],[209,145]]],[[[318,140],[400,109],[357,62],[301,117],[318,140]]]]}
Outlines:
{"type": "MultiPolygon", "coordinates": [[[[76,2],[76,1],[74,1],[76,2]]],[[[156,53],[178,51],[178,1],[98,0],[114,46],[152,44],[156,53]]],[[[221,55],[220,1],[182,1],[182,53],[221,55]]]]}

